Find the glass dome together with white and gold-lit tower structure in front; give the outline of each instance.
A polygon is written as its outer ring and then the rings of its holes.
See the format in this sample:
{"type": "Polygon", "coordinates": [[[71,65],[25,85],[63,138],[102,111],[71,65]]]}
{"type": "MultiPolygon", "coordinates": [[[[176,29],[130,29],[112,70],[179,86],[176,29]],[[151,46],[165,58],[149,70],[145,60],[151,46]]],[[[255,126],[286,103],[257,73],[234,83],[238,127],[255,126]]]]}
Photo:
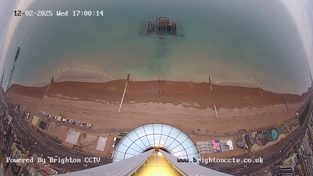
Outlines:
{"type": "Polygon", "coordinates": [[[195,143],[181,130],[146,124],[128,132],[117,144],[111,164],[65,176],[230,176],[199,165],[195,143]]]}

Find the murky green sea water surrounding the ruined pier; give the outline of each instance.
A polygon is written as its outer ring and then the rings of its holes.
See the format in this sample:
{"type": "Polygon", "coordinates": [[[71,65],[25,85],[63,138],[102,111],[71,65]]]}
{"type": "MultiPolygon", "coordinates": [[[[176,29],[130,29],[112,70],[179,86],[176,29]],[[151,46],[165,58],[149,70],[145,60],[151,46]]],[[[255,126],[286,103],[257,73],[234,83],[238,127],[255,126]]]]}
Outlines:
{"type": "Polygon", "coordinates": [[[213,83],[291,93],[311,85],[298,30],[279,0],[34,0],[27,10],[53,16],[21,17],[4,63],[10,70],[21,46],[12,84],[76,70],[108,80],[128,73],[131,80],[208,82],[210,76],[213,83]],[[69,16],[56,16],[58,10],[69,16]],[[74,10],[103,16],[72,16],[74,10]],[[139,36],[141,22],[156,16],[178,20],[185,37],[139,36]]]}

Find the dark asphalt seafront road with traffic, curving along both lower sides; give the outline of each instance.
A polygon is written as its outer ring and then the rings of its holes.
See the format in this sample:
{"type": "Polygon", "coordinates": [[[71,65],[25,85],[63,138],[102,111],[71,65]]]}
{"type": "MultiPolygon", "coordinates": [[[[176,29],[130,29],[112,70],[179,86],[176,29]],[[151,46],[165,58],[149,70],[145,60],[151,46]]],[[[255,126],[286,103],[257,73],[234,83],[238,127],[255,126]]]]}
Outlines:
{"type": "MultiPolygon", "coordinates": [[[[14,117],[15,115],[18,115],[17,113],[15,113],[12,110],[9,110],[9,112],[12,115],[12,117],[14,117]],[[14,116],[13,116],[13,114],[14,114],[14,116]]],[[[23,119],[21,118],[21,120],[23,120],[23,119]]],[[[15,122],[15,120],[14,120],[14,122],[15,122]]],[[[285,154],[287,154],[289,152],[289,150],[294,146],[294,145],[291,146],[290,141],[292,144],[295,144],[298,140],[300,140],[300,137],[304,136],[304,132],[300,133],[300,131],[304,131],[307,128],[308,122],[309,122],[309,118],[306,119],[306,122],[302,126],[302,128],[296,129],[294,132],[291,133],[291,135],[287,136],[281,142],[278,142],[277,144],[269,147],[266,150],[256,152],[254,154],[249,154],[246,156],[236,157],[236,158],[240,158],[241,160],[243,160],[245,158],[253,159],[253,158],[262,157],[264,163],[261,163],[261,164],[256,164],[256,163],[240,163],[240,164],[239,163],[234,163],[234,164],[210,163],[206,167],[209,167],[211,169],[217,169],[220,172],[228,173],[228,174],[235,175],[235,176],[240,176],[240,175],[252,173],[256,170],[264,168],[264,167],[268,166],[269,164],[271,164],[272,162],[276,161],[277,159],[283,157],[285,154]],[[244,167],[244,166],[246,166],[246,167],[244,167]]],[[[19,126],[19,124],[16,124],[16,125],[19,126]]],[[[44,154],[44,155],[54,157],[54,158],[55,158],[55,155],[57,155],[60,158],[72,157],[72,158],[81,158],[82,160],[84,160],[85,157],[93,157],[93,155],[89,156],[89,154],[80,153],[78,151],[68,149],[62,145],[59,145],[59,144],[43,137],[38,132],[36,132],[34,129],[29,127],[28,125],[22,124],[22,127],[24,129],[26,128],[27,131],[31,134],[27,138],[33,136],[32,139],[26,140],[29,144],[33,145],[34,144],[34,142],[33,142],[34,137],[36,137],[35,140],[38,141],[37,144],[39,144],[41,147],[39,147],[37,149],[35,148],[35,150],[36,150],[35,153],[37,153],[39,155],[44,154]],[[45,145],[46,143],[50,143],[50,146],[45,145]]],[[[22,129],[20,129],[20,131],[24,132],[22,129]]],[[[25,135],[25,134],[22,134],[22,135],[25,135]]],[[[33,145],[33,146],[35,146],[35,145],[33,145]]],[[[112,162],[111,159],[101,158],[101,162],[99,164],[94,164],[94,163],[88,164],[88,168],[96,167],[96,166],[99,166],[102,164],[108,164],[111,162],[112,162]],[[103,161],[105,161],[105,162],[103,162],[103,161]]],[[[64,167],[67,169],[72,169],[72,171],[78,171],[78,170],[82,170],[83,168],[85,168],[85,167],[83,167],[83,164],[86,164],[86,163],[76,163],[76,164],[65,163],[63,165],[58,163],[55,165],[59,166],[59,167],[64,167]],[[69,166],[71,166],[71,168],[69,168],[69,166]]]]}

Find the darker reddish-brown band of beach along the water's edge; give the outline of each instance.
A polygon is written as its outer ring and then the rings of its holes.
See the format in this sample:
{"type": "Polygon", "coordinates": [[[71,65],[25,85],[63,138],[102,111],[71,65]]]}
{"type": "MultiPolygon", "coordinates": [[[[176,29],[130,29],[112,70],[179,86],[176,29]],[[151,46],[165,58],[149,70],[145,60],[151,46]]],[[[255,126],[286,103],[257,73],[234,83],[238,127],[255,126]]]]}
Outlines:
{"type": "MultiPolygon", "coordinates": [[[[47,91],[51,98],[94,101],[119,104],[124,91],[126,80],[114,80],[105,83],[90,82],[53,82],[47,91]]],[[[198,109],[210,108],[214,105],[224,109],[263,108],[276,104],[296,104],[303,102],[309,95],[308,89],[301,96],[290,93],[274,93],[261,88],[247,88],[240,86],[220,86],[209,83],[193,83],[178,81],[129,81],[125,103],[162,102],[181,104],[184,107],[198,109]],[[164,94],[163,94],[164,90],[164,94]],[[262,92],[262,94],[261,94],[262,92]],[[263,96],[263,97],[262,97],[263,96]]],[[[14,84],[9,89],[19,95],[40,98],[45,94],[44,87],[25,87],[14,84]]]]}

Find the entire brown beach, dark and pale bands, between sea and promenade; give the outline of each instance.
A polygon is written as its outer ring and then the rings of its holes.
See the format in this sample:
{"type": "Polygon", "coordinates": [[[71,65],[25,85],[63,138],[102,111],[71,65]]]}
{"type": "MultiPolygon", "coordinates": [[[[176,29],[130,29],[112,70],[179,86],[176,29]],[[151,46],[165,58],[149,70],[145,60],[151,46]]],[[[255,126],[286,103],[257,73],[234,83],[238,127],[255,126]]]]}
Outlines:
{"type": "Polygon", "coordinates": [[[309,95],[308,92],[299,96],[261,89],[262,97],[259,88],[212,85],[211,91],[208,83],[130,81],[122,110],[118,112],[125,82],[52,83],[41,106],[47,86],[12,85],[9,97],[14,104],[21,102],[22,108],[25,106],[24,110],[32,114],[38,114],[39,110],[60,114],[93,123],[94,130],[133,129],[159,122],[184,131],[232,133],[289,121],[309,95]],[[219,118],[216,118],[214,105],[219,118]]]}

